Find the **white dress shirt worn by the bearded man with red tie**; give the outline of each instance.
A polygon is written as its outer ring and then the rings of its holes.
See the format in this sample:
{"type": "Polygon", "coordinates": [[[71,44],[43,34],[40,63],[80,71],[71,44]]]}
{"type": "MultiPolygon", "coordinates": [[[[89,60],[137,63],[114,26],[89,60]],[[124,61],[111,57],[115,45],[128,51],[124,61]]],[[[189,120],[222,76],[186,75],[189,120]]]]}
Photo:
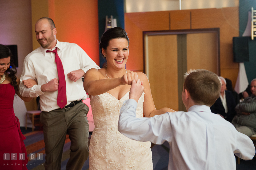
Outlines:
{"type": "MultiPolygon", "coordinates": [[[[86,72],[91,68],[99,69],[100,67],[97,66],[97,64],[77,44],[59,42],[57,40],[55,47],[58,48],[57,53],[64,69],[67,105],[72,101],[86,99],[87,95],[83,88],[82,79],[73,82],[69,80],[67,74],[78,69],[82,69],[86,72]]],[[[55,47],[52,50],[54,50],[55,47]]],[[[55,63],[55,54],[46,53],[46,50],[47,49],[40,46],[26,56],[23,63],[19,91],[24,97],[38,97],[40,95],[41,110],[49,112],[59,108],[57,105],[58,90],[54,92],[46,91],[43,93],[41,91],[41,86],[54,78],[58,79],[58,71],[55,63]],[[27,79],[37,80],[38,85],[34,85],[27,89],[21,82],[22,80],[27,79]]]]}

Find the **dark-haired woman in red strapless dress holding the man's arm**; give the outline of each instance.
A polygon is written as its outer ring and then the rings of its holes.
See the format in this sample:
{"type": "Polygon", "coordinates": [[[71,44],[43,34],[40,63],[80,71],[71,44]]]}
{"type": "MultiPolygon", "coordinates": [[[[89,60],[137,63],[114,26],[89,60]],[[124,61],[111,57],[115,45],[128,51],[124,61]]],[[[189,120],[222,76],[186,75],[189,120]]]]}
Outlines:
{"type": "MultiPolygon", "coordinates": [[[[27,170],[27,152],[23,142],[25,137],[21,133],[19,119],[14,115],[13,99],[15,93],[26,102],[32,98],[22,97],[19,93],[19,79],[15,76],[17,70],[15,66],[10,67],[10,61],[10,49],[0,44],[0,169],[27,170]],[[13,157],[12,153],[17,155],[13,157]]],[[[30,84],[28,88],[36,84],[34,80],[27,82],[30,84]]]]}

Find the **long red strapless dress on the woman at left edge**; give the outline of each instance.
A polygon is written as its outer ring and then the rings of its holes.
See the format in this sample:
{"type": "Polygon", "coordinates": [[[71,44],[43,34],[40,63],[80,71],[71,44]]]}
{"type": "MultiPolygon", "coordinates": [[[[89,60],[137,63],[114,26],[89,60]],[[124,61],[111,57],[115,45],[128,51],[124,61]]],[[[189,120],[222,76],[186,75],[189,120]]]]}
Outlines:
{"type": "Polygon", "coordinates": [[[27,170],[27,152],[21,133],[19,119],[14,115],[15,90],[11,84],[0,84],[0,169],[27,170]],[[4,160],[4,153],[10,160],[4,160]],[[11,153],[17,153],[18,160],[11,160],[11,153]],[[19,160],[19,153],[25,153],[25,160],[19,160]]]}

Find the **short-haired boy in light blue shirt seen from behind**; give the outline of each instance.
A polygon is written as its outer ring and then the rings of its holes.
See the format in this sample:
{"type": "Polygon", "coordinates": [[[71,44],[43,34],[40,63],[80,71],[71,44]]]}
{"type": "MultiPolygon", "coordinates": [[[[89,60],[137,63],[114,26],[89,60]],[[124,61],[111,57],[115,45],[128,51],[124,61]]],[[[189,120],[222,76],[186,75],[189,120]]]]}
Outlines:
{"type": "Polygon", "coordinates": [[[129,100],[120,111],[118,130],[137,141],[156,144],[169,142],[168,169],[235,170],[235,155],[250,160],[255,155],[253,142],[222,117],[211,113],[210,106],[219,97],[219,77],[207,70],[187,74],[182,101],[188,112],[136,118],[137,101],[144,87],[133,80],[129,100]]]}

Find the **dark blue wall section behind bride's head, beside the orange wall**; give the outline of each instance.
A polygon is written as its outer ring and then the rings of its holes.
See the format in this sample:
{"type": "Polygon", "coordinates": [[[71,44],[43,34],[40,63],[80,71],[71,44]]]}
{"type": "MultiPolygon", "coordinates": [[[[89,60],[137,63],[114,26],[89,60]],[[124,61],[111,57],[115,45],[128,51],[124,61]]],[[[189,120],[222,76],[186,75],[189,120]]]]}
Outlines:
{"type": "MultiPolygon", "coordinates": [[[[105,31],[106,15],[108,18],[112,15],[113,18],[117,19],[117,27],[125,28],[124,19],[124,0],[98,0],[98,12],[99,12],[99,42],[101,36],[105,31]]],[[[101,55],[101,50],[99,49],[99,64],[102,68],[102,64],[106,60],[101,55]]]]}

